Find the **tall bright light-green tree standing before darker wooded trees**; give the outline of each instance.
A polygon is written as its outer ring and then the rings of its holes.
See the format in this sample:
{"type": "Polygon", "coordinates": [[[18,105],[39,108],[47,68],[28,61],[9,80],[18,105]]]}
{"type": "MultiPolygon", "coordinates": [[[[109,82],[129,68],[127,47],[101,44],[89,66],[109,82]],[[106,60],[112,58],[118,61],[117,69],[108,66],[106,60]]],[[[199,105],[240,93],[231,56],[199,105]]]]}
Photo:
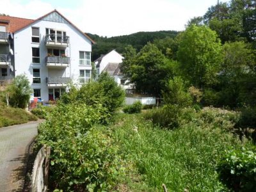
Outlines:
{"type": "Polygon", "coordinates": [[[207,26],[192,25],[182,34],[178,60],[184,77],[196,88],[216,84],[220,70],[221,44],[207,26]]]}

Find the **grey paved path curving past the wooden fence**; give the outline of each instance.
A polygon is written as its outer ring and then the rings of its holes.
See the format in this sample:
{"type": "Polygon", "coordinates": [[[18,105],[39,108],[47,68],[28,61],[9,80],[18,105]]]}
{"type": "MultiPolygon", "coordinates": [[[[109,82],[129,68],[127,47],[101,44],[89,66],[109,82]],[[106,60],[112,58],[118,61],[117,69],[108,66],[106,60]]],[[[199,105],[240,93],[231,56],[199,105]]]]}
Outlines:
{"type": "Polygon", "coordinates": [[[0,192],[22,191],[26,153],[39,122],[0,128],[0,192]]]}

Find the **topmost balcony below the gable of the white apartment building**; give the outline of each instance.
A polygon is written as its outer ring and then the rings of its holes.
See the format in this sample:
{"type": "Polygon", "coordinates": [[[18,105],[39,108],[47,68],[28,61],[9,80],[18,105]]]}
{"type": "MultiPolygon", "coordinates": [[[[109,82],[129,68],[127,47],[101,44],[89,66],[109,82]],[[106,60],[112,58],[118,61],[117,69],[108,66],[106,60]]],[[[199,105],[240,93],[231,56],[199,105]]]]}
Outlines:
{"type": "Polygon", "coordinates": [[[68,47],[69,36],[49,34],[45,35],[46,47],[68,47]]]}

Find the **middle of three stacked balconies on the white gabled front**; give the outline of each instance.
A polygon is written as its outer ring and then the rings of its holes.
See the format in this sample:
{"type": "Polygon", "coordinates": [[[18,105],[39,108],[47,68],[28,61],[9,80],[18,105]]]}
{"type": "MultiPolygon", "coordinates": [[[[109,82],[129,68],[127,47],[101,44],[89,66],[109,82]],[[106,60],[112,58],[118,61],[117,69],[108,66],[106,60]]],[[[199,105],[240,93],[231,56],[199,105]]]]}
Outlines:
{"type": "Polygon", "coordinates": [[[46,66],[48,68],[66,68],[70,63],[70,58],[60,56],[47,56],[46,66]]]}

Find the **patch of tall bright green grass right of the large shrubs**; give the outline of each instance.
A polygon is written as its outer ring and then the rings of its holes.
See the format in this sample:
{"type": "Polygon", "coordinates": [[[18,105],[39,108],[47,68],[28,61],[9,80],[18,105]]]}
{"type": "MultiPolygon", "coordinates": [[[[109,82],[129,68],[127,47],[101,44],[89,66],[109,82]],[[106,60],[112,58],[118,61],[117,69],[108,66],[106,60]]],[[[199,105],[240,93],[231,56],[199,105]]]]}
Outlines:
{"type": "Polygon", "coordinates": [[[124,158],[156,191],[163,183],[170,191],[225,191],[216,172],[221,154],[246,145],[213,124],[191,122],[168,131],[139,115],[122,115],[118,122],[113,131],[124,158]]]}

